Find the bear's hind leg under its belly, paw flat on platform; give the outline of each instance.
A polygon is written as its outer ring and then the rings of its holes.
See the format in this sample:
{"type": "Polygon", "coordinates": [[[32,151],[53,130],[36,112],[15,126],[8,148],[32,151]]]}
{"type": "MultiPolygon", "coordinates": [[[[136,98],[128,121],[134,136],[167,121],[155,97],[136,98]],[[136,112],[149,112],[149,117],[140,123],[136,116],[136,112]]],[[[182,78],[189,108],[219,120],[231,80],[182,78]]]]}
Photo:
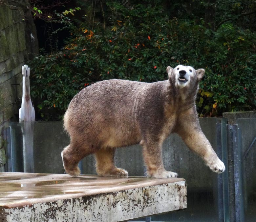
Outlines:
{"type": "Polygon", "coordinates": [[[96,172],[100,176],[127,176],[128,172],[117,168],[114,162],[115,149],[102,148],[95,153],[96,172]]]}

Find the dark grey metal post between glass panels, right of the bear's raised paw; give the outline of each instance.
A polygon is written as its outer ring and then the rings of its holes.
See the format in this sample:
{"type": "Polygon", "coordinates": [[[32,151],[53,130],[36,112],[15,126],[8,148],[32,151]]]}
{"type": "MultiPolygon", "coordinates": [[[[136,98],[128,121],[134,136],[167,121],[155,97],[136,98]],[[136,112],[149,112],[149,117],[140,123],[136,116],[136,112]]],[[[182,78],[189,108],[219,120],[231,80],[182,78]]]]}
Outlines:
{"type": "Polygon", "coordinates": [[[236,221],[235,182],[234,182],[234,152],[233,127],[227,125],[227,154],[228,154],[228,191],[229,191],[229,219],[236,221]]]}

